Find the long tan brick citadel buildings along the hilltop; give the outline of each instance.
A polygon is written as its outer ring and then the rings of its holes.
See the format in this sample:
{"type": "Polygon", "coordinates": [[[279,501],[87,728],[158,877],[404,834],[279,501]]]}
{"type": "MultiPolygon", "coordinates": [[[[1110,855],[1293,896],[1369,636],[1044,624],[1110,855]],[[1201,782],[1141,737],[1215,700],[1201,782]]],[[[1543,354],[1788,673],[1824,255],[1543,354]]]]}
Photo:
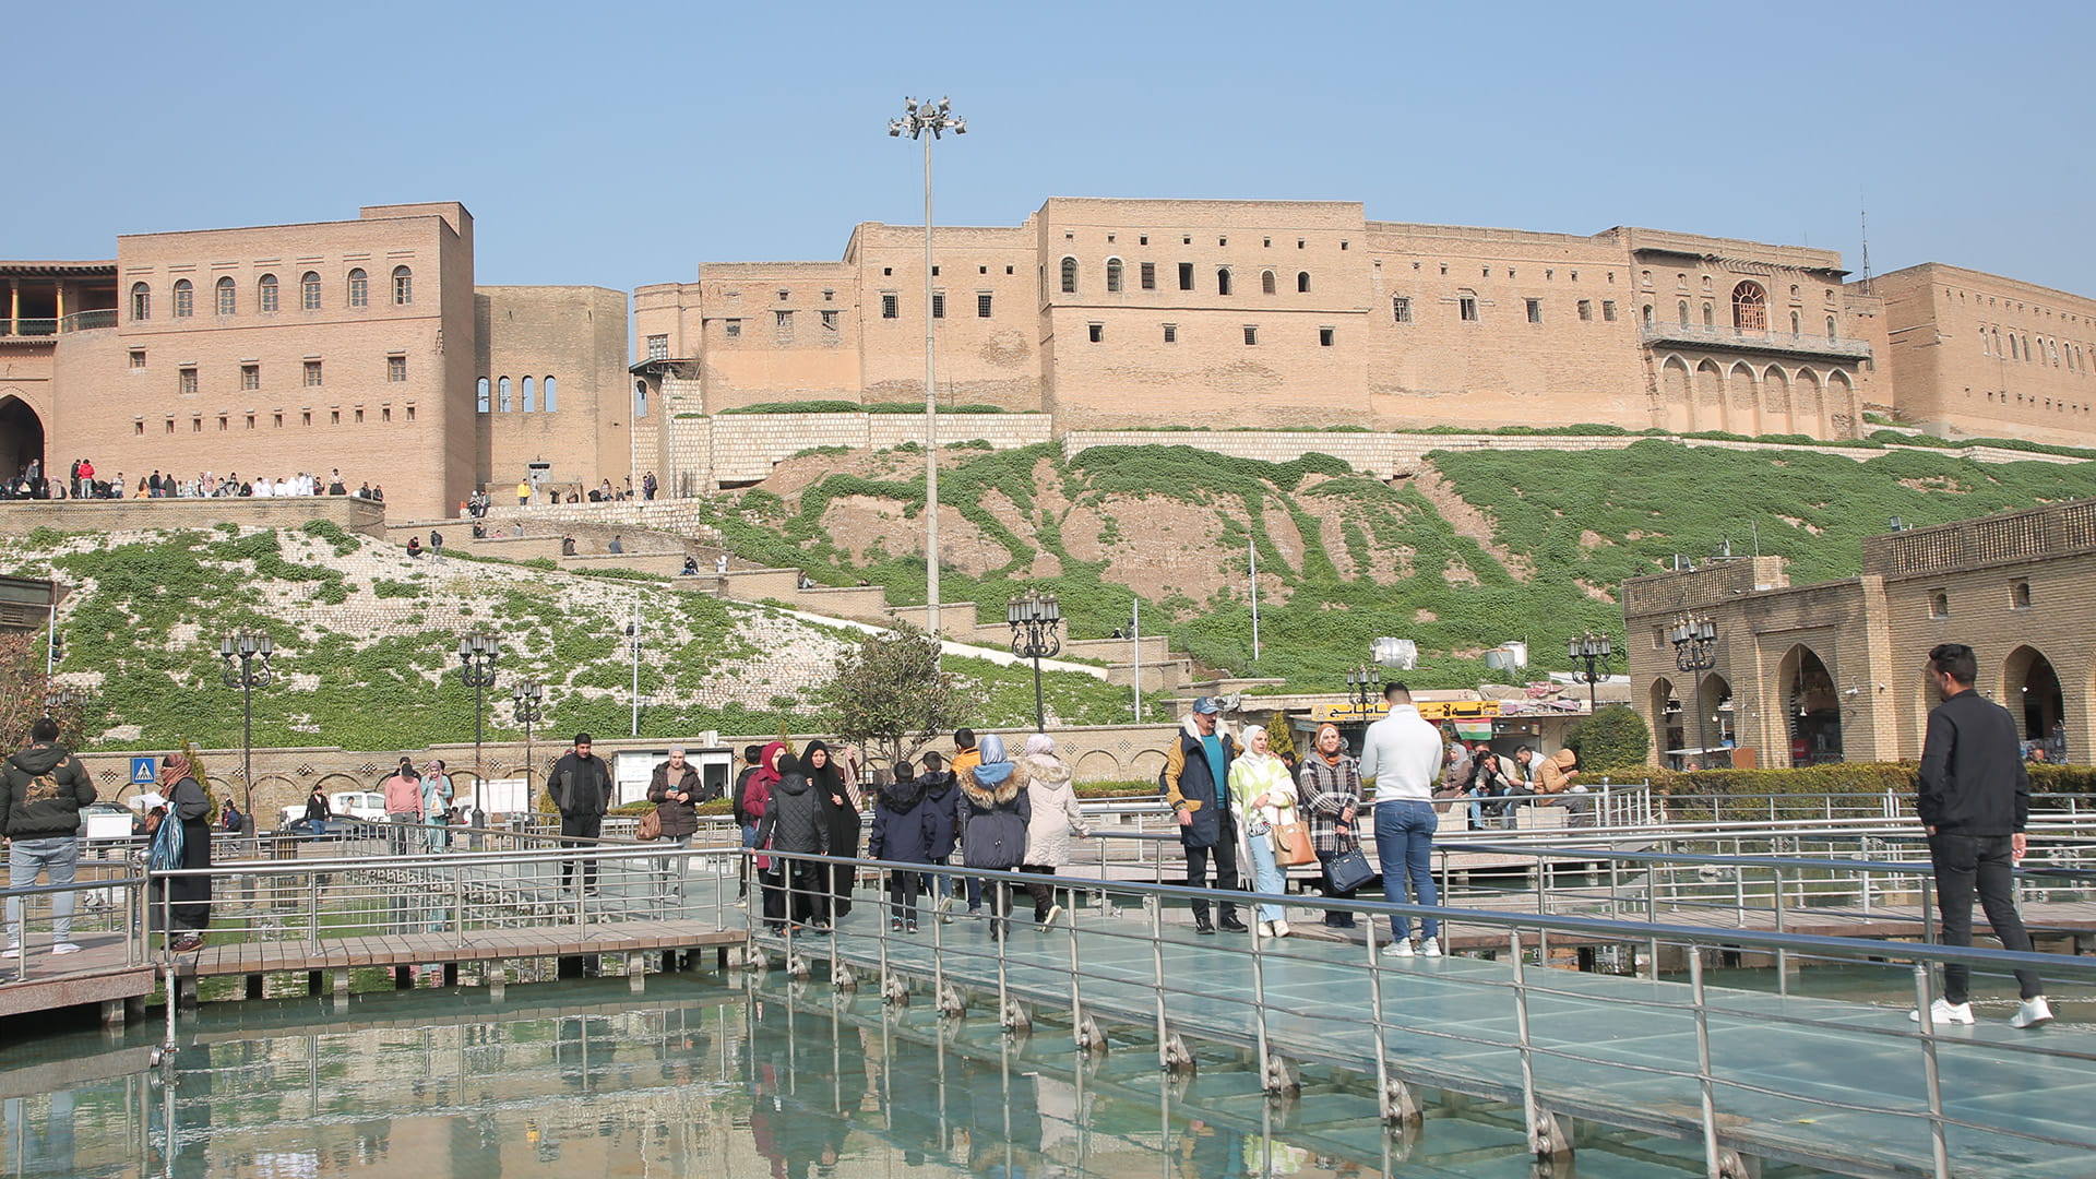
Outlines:
{"type": "MultiPolygon", "coordinates": [[[[893,445],[922,422],[736,411],[920,405],[922,233],[866,222],[838,262],[639,287],[631,342],[620,292],[474,285],[459,203],[0,262],[0,476],[82,455],[132,483],[342,468],[436,516],[532,464],[558,487],[658,472],[677,495],[811,445],[893,445]]],[[[1945,436],[2096,434],[2096,302],[1941,264],[1863,283],[1832,250],[1381,222],[1358,201],[1052,197],[933,245],[939,401],[1002,411],[943,434],[1000,447],[1170,424],[1844,438],[1865,405],[1945,436]]]]}

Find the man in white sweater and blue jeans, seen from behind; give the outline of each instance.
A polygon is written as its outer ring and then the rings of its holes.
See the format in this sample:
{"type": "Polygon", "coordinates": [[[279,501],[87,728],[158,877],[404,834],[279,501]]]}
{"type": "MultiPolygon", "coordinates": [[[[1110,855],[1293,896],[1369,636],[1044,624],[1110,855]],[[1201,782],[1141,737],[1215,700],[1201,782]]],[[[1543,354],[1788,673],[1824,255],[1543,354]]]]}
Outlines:
{"type": "MultiPolygon", "coordinates": [[[[1375,787],[1375,858],[1383,869],[1383,900],[1404,902],[1404,883],[1413,885],[1413,904],[1434,904],[1434,780],[1442,770],[1440,730],[1413,707],[1413,690],[1402,682],[1383,684],[1390,713],[1369,726],[1360,751],[1360,780],[1375,787]]],[[[1421,952],[1440,957],[1440,923],[1419,919],[1421,952]]],[[[1413,957],[1413,919],[1390,917],[1394,959],[1413,957]]]]}

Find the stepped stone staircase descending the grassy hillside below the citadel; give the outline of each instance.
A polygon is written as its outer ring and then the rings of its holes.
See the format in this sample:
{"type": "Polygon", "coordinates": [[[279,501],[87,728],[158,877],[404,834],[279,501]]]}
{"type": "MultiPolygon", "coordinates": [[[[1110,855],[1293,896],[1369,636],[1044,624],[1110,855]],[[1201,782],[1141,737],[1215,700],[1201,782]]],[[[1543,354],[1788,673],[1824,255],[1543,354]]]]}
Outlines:
{"type": "MultiPolygon", "coordinates": [[[[486,537],[474,537],[472,520],[400,520],[386,524],[386,539],[405,545],[411,535],[430,543],[430,531],[444,533],[444,552],[497,556],[507,560],[553,560],[568,573],[597,569],[631,569],[669,577],[669,590],[711,594],[734,602],[776,602],[828,619],[849,619],[870,625],[897,621],[924,627],[926,608],[891,606],[880,585],[811,585],[803,587],[799,569],[765,569],[721,548],[713,529],[679,518],[679,503],[562,503],[553,508],[495,508],[482,522],[486,537]],[[664,527],[667,524],[667,527],[664,527]],[[702,535],[687,537],[694,529],[702,535]],[[522,535],[518,535],[522,531],[522,535]],[[574,537],[574,556],[562,556],[562,539],[574,537]],[[618,537],[625,552],[608,552],[618,537]],[[727,556],[727,573],[717,573],[727,556]],[[698,562],[698,577],[679,577],[683,558],[698,562]]],[[[943,602],[939,621],[945,638],[989,648],[1010,648],[1010,627],[1002,621],[977,621],[975,602],[943,602]]],[[[1107,682],[1128,686],[1136,680],[1136,644],[1126,638],[1063,638],[1058,659],[1084,659],[1107,665],[1107,682]]],[[[1193,659],[1170,648],[1165,636],[1144,636],[1140,657],[1142,690],[1170,692],[1195,678],[1193,659]]]]}

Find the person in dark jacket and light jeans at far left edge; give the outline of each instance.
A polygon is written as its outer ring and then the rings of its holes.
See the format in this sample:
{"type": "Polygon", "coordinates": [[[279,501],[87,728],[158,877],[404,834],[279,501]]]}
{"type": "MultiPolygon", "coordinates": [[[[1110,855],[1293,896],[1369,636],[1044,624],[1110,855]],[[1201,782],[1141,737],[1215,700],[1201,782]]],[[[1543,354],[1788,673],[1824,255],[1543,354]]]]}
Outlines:
{"type": "MultiPolygon", "coordinates": [[[[8,837],[8,887],[29,887],[38,873],[52,887],[73,883],[80,864],[80,812],[94,801],[94,778],[80,757],[59,745],[59,722],[29,726],[29,747],[0,772],[0,833],[8,837]]],[[[50,894],[50,952],[75,955],[73,902],[78,894],[50,894]]],[[[6,948],[23,952],[21,898],[6,898],[6,948]]]]}

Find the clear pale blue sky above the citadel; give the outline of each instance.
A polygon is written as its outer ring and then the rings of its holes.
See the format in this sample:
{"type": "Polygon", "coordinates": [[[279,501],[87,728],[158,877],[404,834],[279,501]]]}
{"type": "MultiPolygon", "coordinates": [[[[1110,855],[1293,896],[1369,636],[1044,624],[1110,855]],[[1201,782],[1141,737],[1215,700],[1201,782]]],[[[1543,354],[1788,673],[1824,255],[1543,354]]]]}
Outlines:
{"type": "Polygon", "coordinates": [[[2096,296],[2096,2],[17,4],[0,256],[459,199],[478,281],[692,279],[1050,195],[1647,224],[2096,296]]]}

